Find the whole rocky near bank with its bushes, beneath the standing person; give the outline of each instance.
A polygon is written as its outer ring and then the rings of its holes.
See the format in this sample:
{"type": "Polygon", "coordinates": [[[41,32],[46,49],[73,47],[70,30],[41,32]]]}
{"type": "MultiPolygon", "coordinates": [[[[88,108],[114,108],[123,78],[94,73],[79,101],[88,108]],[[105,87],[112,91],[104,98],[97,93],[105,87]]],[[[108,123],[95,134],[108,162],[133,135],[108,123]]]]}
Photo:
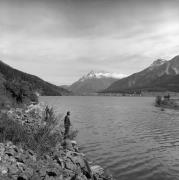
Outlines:
{"type": "Polygon", "coordinates": [[[62,121],[60,123],[49,107],[38,104],[23,109],[3,110],[0,120],[0,179],[113,179],[106,175],[100,166],[90,164],[85,155],[79,151],[74,141],[76,131],[71,133],[69,139],[63,140],[62,121]],[[49,117],[53,123],[47,119],[49,117]],[[4,119],[10,122],[8,128],[4,119]],[[11,129],[11,123],[14,129],[11,129]],[[28,134],[27,138],[23,133],[28,134]]]}

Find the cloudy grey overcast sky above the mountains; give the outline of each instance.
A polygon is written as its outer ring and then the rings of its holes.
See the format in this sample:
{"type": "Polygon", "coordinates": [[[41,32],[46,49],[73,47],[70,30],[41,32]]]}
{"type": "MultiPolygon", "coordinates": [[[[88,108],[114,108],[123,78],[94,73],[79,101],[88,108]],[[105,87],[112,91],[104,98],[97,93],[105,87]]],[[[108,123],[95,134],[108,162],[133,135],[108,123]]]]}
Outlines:
{"type": "Polygon", "coordinates": [[[0,0],[0,59],[56,85],[178,54],[178,0],[0,0]]]}

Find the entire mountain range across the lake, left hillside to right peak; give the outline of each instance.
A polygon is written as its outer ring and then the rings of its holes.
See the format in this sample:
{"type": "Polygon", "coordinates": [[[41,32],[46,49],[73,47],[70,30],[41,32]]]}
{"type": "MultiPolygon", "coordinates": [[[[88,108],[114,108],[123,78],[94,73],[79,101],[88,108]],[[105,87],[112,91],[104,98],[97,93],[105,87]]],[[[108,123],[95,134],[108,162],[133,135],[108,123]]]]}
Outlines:
{"type": "Polygon", "coordinates": [[[130,76],[91,71],[70,86],[58,87],[37,76],[24,73],[0,61],[0,102],[15,99],[36,100],[45,96],[89,95],[101,93],[141,93],[142,91],[179,92],[179,56],[158,59],[146,69],[130,76]],[[66,90],[67,89],[67,90],[66,90]]]}

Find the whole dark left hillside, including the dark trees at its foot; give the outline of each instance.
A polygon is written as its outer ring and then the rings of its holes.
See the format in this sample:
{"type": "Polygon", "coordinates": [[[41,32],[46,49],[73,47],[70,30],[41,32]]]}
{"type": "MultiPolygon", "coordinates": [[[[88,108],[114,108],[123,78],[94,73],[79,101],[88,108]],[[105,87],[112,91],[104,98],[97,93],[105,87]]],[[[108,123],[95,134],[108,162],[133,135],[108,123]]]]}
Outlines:
{"type": "Polygon", "coordinates": [[[0,101],[22,102],[24,99],[36,100],[35,94],[45,96],[68,95],[66,89],[48,83],[37,76],[24,73],[0,61],[0,101]]]}

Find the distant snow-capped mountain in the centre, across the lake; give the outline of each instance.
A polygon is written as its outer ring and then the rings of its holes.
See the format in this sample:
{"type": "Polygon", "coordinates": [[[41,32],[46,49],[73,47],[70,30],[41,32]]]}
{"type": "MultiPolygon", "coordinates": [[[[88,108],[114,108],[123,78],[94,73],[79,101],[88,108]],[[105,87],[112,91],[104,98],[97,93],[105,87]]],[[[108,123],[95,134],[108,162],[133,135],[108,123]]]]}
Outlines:
{"type": "Polygon", "coordinates": [[[122,77],[124,77],[123,74],[111,74],[91,71],[90,73],[73,83],[69,87],[69,90],[75,94],[95,93],[106,89],[113,82],[122,77]]]}

